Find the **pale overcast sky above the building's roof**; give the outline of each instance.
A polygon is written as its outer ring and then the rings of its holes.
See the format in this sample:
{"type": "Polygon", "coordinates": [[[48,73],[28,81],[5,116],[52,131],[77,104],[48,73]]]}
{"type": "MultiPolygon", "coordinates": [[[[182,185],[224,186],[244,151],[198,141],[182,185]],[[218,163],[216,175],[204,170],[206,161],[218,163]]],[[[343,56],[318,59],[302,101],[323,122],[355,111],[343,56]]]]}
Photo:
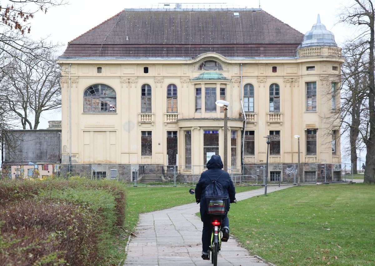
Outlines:
{"type": "MultiPolygon", "coordinates": [[[[69,1],[69,0],[68,0],[69,1]]],[[[158,1],[121,1],[121,0],[70,0],[65,6],[52,7],[46,14],[37,13],[31,19],[31,37],[33,39],[48,37],[54,43],[64,45],[111,18],[124,8],[150,8],[158,1]]],[[[165,1],[165,3],[224,3],[225,1],[165,1]]],[[[164,1],[160,1],[164,3],[164,1]]],[[[235,0],[227,1],[230,5],[248,8],[260,8],[289,24],[296,30],[306,33],[311,30],[312,25],[317,22],[320,14],[321,23],[326,25],[327,30],[335,34],[336,43],[342,47],[345,40],[350,39],[350,34],[355,33],[355,28],[340,24],[339,14],[344,6],[353,3],[353,0],[235,0]]],[[[47,128],[48,120],[61,120],[60,113],[46,113],[39,128],[47,128]]]]}

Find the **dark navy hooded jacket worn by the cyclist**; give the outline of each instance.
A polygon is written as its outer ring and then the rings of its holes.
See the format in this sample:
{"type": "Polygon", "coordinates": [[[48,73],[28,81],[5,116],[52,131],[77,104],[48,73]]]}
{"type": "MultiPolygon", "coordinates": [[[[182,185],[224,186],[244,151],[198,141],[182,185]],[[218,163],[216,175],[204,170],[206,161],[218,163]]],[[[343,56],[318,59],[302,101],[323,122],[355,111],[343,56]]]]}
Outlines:
{"type": "Polygon", "coordinates": [[[207,212],[207,203],[204,196],[205,188],[211,183],[211,179],[217,179],[217,182],[223,186],[223,189],[228,192],[229,198],[225,202],[226,211],[229,211],[229,203],[236,199],[236,191],[234,189],[233,181],[229,177],[228,172],[222,170],[223,162],[220,155],[212,155],[211,159],[207,162],[206,171],[202,172],[198,183],[195,187],[195,199],[200,200],[200,210],[202,213],[207,212]],[[220,176],[221,175],[221,176],[220,176]]]}

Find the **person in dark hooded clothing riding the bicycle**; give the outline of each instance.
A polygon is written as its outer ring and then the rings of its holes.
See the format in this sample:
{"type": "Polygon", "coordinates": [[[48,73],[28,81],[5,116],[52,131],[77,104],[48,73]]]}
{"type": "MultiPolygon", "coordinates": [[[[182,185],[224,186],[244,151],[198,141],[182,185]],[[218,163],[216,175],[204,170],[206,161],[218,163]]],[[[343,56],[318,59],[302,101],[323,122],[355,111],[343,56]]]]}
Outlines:
{"type": "Polygon", "coordinates": [[[199,178],[198,183],[195,187],[195,200],[196,202],[200,202],[200,213],[201,213],[201,220],[203,222],[203,230],[202,230],[202,259],[208,260],[208,249],[210,247],[211,241],[211,218],[210,215],[207,213],[207,204],[204,197],[204,190],[205,188],[211,183],[211,179],[216,179],[221,177],[217,180],[220,183],[224,190],[228,192],[229,199],[226,199],[225,206],[226,206],[226,213],[225,217],[222,220],[222,232],[223,238],[222,241],[226,242],[229,239],[229,220],[226,214],[229,211],[229,203],[234,202],[236,200],[236,190],[234,189],[233,181],[229,177],[228,172],[222,170],[223,162],[221,160],[220,155],[212,155],[211,159],[207,162],[207,169],[206,171],[202,172],[201,177],[199,178]],[[207,174],[205,174],[207,172],[207,174]],[[211,178],[211,179],[210,179],[211,178]]]}

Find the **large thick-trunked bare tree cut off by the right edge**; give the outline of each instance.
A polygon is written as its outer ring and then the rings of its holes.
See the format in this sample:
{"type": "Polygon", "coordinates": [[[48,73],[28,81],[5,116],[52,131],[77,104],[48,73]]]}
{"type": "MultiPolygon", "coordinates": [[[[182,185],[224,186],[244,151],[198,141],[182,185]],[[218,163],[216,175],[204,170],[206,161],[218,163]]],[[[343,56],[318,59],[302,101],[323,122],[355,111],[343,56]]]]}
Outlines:
{"type": "Polygon", "coordinates": [[[341,21],[359,28],[356,40],[363,39],[363,46],[368,56],[366,76],[368,79],[366,96],[368,99],[368,135],[363,137],[366,145],[365,183],[375,183],[375,10],[371,0],[353,0],[353,5],[345,8],[341,21]]]}

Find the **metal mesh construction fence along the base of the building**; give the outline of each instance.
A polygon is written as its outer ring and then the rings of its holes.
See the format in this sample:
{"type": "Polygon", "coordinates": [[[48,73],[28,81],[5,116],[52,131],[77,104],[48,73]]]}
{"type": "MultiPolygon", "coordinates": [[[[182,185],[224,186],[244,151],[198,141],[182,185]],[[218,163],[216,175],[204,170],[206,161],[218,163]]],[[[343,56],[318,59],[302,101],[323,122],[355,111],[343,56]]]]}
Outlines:
{"type": "MultiPolygon", "coordinates": [[[[342,182],[353,177],[351,164],[252,164],[228,166],[234,184],[264,185],[342,182]],[[300,169],[300,170],[299,170],[300,169]]],[[[80,176],[92,180],[110,179],[129,186],[194,186],[204,165],[3,165],[7,179],[43,179],[49,176],[80,176]]]]}

